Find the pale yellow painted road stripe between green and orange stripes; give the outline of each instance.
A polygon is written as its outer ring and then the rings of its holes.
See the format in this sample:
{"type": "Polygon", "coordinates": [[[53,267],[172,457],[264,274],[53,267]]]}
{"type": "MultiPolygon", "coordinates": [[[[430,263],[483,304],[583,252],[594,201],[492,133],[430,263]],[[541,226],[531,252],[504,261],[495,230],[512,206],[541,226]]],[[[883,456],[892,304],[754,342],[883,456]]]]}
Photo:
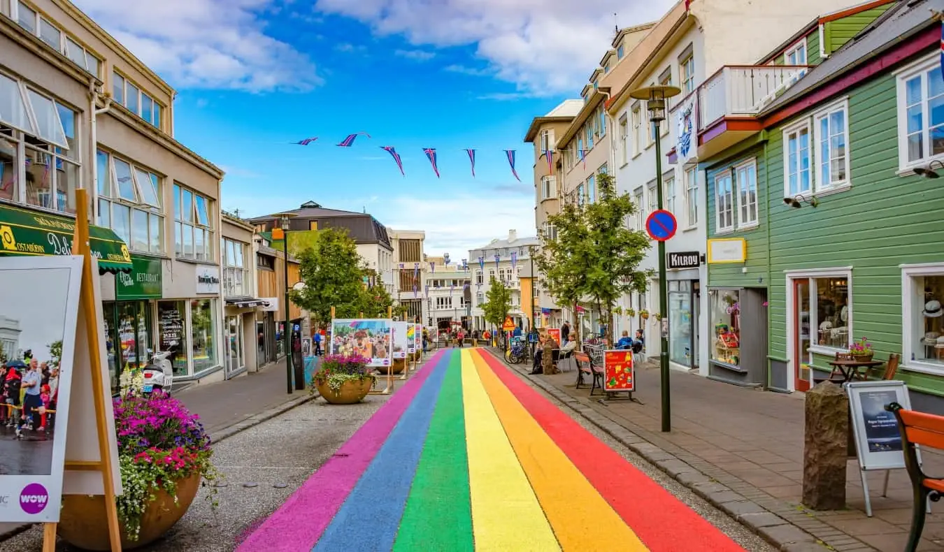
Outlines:
{"type": "Polygon", "coordinates": [[[476,552],[560,550],[481,385],[472,351],[465,349],[462,355],[465,442],[476,552]]]}

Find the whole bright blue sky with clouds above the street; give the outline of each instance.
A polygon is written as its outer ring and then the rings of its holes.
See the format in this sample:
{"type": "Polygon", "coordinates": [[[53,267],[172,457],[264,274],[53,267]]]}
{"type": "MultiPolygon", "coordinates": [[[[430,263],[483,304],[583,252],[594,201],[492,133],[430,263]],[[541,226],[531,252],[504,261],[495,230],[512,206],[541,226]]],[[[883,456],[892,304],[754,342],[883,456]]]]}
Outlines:
{"type": "Polygon", "coordinates": [[[665,7],[640,4],[76,0],[177,88],[176,138],[227,171],[224,209],[367,209],[453,256],[512,228],[534,233],[524,133],[579,94],[615,22],[665,7]],[[361,131],[371,138],[334,145],[361,131]],[[405,177],[381,145],[396,147],[405,177]],[[424,147],[437,149],[441,178],[424,147]],[[475,178],[464,148],[478,150],[475,178]],[[504,149],[517,150],[520,183],[504,149]]]}

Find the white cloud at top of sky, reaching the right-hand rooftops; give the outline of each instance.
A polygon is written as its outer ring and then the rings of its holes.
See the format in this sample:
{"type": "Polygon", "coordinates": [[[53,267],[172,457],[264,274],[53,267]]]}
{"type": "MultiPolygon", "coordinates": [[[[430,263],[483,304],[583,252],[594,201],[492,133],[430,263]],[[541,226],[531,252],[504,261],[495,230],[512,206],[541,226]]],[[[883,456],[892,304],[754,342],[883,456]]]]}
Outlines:
{"type": "Polygon", "coordinates": [[[356,18],[415,45],[475,45],[491,74],[520,92],[575,92],[619,25],[658,19],[673,0],[317,0],[315,9],[356,18]]]}

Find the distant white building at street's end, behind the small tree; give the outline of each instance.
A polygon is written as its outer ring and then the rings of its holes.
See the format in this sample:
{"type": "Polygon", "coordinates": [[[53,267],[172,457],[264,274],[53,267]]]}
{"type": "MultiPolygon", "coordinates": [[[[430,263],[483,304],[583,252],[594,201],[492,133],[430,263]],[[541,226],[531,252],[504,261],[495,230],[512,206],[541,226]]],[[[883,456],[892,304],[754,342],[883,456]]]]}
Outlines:
{"type": "Polygon", "coordinates": [[[472,327],[487,329],[485,313],[481,304],[486,301],[492,278],[511,288],[512,308],[509,315],[514,324],[525,327],[527,314],[521,310],[521,271],[525,263],[531,262],[531,248],[537,249],[541,241],[537,236],[518,238],[516,230],[508,231],[508,238],[495,239],[487,245],[469,251],[468,264],[472,283],[472,327]]]}

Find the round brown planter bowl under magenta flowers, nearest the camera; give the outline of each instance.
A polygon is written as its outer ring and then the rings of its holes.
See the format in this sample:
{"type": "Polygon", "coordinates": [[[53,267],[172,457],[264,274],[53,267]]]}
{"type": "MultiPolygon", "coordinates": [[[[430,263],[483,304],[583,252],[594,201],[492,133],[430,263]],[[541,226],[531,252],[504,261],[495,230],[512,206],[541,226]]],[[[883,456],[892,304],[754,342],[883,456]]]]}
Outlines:
{"type": "MultiPolygon", "coordinates": [[[[156,489],[155,500],[147,505],[141,516],[141,532],[136,541],[127,538],[125,524],[118,520],[121,525],[122,549],[132,550],[160,539],[187,513],[199,490],[199,474],[177,481],[177,504],[174,503],[173,496],[162,489],[156,489]]],[[[107,520],[104,496],[64,494],[57,532],[64,541],[79,548],[110,550],[107,520]]]]}

